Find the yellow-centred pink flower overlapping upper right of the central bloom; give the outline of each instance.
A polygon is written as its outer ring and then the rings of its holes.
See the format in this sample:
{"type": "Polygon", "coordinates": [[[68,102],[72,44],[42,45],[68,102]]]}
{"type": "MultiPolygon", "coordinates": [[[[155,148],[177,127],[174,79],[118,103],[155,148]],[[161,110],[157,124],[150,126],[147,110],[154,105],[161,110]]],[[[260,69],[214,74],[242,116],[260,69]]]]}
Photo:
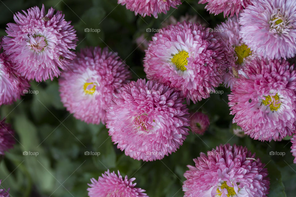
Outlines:
{"type": "Polygon", "coordinates": [[[181,91],[194,103],[208,98],[225,73],[224,47],[198,24],[177,23],[152,37],[144,58],[147,78],[181,91]]]}

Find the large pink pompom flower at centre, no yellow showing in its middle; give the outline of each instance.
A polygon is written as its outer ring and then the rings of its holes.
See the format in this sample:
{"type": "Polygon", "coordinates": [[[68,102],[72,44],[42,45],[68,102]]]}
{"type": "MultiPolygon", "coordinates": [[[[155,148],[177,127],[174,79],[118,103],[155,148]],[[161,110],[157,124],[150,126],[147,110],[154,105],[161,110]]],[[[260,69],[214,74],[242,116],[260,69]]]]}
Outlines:
{"type": "Polygon", "coordinates": [[[175,152],[188,135],[186,105],[179,92],[138,79],[114,94],[106,114],[112,141],[125,155],[153,161],[175,152]]]}

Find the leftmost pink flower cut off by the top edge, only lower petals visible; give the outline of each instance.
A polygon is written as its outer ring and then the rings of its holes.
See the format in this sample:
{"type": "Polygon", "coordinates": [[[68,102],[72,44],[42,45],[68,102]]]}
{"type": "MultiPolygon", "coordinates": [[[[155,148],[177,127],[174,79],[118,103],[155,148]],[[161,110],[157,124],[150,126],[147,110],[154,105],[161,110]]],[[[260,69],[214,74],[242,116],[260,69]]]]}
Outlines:
{"type": "Polygon", "coordinates": [[[135,12],[135,15],[140,14],[142,17],[151,16],[157,18],[158,13],[165,13],[171,7],[181,4],[181,0],[117,0],[118,4],[125,5],[126,9],[135,12]]]}

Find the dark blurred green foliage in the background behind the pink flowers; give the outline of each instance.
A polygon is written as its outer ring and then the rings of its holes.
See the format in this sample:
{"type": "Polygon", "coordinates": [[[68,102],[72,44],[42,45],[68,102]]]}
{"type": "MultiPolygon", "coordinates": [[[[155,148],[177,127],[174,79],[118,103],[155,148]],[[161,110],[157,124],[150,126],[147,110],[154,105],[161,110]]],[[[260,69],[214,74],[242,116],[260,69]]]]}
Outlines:
{"type": "MultiPolygon", "coordinates": [[[[196,0],[185,0],[178,9],[171,9],[158,18],[135,16],[116,0],[2,0],[0,2],[0,36],[5,35],[6,23],[13,22],[13,13],[32,6],[49,7],[63,11],[72,21],[79,39],[77,50],[85,46],[109,47],[118,52],[133,72],[134,79],[145,78],[142,67],[144,53],[135,39],[144,34],[147,40],[153,33],[146,28],[159,28],[170,16],[198,15],[210,27],[224,21],[220,14],[214,16],[204,10],[196,0]],[[84,32],[85,28],[100,32],[84,32]]],[[[87,196],[90,178],[98,178],[104,171],[119,170],[123,175],[135,177],[137,186],[151,197],[183,196],[182,182],[186,165],[193,158],[217,145],[230,143],[248,147],[266,163],[271,179],[269,197],[294,197],[296,191],[296,166],[290,153],[291,143],[260,142],[248,136],[233,135],[232,116],[227,105],[229,89],[218,87],[223,94],[212,94],[209,99],[189,106],[191,111],[203,111],[211,120],[204,136],[190,133],[180,149],[160,161],[142,162],[125,156],[113,145],[104,125],[91,125],[73,118],[60,102],[57,80],[31,82],[31,90],[13,105],[1,106],[1,118],[6,117],[16,131],[18,142],[6,153],[0,164],[1,186],[10,187],[12,197],[82,197],[87,196]],[[23,155],[23,151],[39,155],[23,155]],[[100,155],[85,155],[85,151],[100,155]],[[270,151],[285,152],[284,156],[270,155],[270,151]]]]}

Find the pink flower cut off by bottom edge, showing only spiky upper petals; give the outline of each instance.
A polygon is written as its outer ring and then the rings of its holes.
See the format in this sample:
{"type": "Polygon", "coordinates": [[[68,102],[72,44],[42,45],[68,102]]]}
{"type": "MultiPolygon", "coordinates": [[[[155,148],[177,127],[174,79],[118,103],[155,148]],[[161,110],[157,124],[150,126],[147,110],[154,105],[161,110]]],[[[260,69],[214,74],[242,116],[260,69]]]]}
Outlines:
{"type": "Polygon", "coordinates": [[[123,179],[118,171],[117,174],[106,171],[98,180],[92,178],[90,188],[87,189],[89,197],[148,197],[145,190],[135,187],[137,183],[133,183],[135,178],[123,179]]]}

